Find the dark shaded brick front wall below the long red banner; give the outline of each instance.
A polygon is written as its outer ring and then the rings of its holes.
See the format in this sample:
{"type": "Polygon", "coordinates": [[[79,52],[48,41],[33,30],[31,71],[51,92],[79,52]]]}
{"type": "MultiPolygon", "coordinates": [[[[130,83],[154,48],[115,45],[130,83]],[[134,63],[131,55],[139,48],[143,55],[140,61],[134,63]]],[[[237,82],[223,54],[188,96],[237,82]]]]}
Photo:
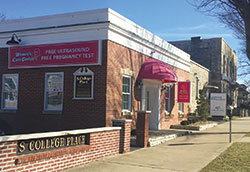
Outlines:
{"type": "MultiPolygon", "coordinates": [[[[18,110],[0,110],[0,124],[5,123],[7,134],[20,134],[105,126],[106,112],[106,52],[103,41],[102,65],[87,66],[94,72],[94,100],[72,100],[73,73],[80,67],[50,67],[8,69],[8,49],[0,48],[0,90],[2,74],[19,74],[18,110]],[[64,72],[63,111],[61,114],[43,113],[46,72],[64,72]]],[[[0,93],[1,100],[2,93],[0,93]]]]}

